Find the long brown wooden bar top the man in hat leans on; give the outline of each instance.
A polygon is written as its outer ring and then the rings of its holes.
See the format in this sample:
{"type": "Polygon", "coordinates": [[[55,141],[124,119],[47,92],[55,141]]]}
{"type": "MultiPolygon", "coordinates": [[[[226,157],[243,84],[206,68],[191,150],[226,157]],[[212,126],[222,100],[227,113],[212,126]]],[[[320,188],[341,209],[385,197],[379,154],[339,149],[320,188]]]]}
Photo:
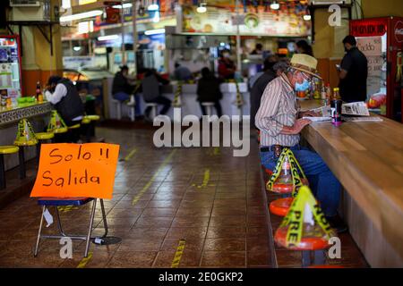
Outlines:
{"type": "MultiPolygon", "coordinates": [[[[321,106],[300,101],[301,110],[321,106]]],[[[312,122],[302,134],[403,257],[403,124],[312,122]]],[[[371,238],[368,238],[370,241],[371,238]]]]}

